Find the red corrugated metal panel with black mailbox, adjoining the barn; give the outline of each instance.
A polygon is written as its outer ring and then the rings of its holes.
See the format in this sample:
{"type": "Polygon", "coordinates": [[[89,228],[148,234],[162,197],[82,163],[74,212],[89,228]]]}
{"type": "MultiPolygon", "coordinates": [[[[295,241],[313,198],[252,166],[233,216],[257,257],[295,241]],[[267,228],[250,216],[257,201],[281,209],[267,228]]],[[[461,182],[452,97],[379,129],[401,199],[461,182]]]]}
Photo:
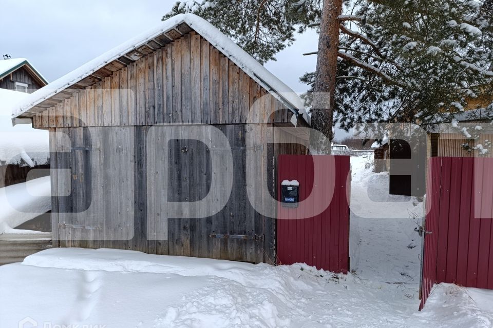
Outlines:
{"type": "Polygon", "coordinates": [[[283,180],[299,182],[299,206],[278,206],[278,262],[347,273],[349,156],[280,155],[277,167],[279,197],[283,180]]]}

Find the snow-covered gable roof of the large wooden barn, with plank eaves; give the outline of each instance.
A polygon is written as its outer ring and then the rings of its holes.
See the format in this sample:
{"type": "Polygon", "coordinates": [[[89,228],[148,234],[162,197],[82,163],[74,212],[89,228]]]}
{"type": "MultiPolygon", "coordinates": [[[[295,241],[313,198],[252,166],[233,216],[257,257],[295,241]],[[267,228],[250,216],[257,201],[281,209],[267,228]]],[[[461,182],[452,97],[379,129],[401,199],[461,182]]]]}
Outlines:
{"type": "MultiPolygon", "coordinates": [[[[173,42],[174,39],[180,38],[183,34],[190,31],[196,31],[200,34],[260,86],[279,99],[291,111],[301,115],[306,122],[309,122],[310,117],[304,110],[300,98],[291,88],[282,83],[282,81],[258,63],[255,58],[236,45],[229,37],[221,33],[205,19],[194,14],[173,16],[154,29],[128,40],[120,46],[92,59],[80,68],[53,81],[48,86],[33,92],[23,103],[13,110],[13,117],[32,117],[53,106],[51,97],[57,95],[55,100],[62,101],[63,99],[60,100],[59,98],[63,97],[63,93],[69,87],[83,89],[85,86],[93,84],[94,77],[91,80],[91,75],[97,76],[97,73],[104,69],[110,72],[116,71],[146,53],[153,52],[166,43],[173,42]],[[59,94],[60,96],[58,96],[59,94]],[[48,99],[51,101],[46,101],[48,99]]],[[[70,93],[66,93],[65,97],[70,97],[70,93]]],[[[296,116],[293,115],[294,118],[296,116]]]]}

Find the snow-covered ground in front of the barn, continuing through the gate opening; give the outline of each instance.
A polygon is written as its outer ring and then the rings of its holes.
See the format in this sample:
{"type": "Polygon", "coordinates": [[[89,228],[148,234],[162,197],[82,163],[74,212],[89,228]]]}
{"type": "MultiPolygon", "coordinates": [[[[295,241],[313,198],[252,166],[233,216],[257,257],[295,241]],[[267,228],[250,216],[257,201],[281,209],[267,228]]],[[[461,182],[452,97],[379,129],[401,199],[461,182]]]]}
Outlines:
{"type": "Polygon", "coordinates": [[[377,209],[362,193],[389,200],[388,176],[372,174],[365,166],[371,160],[352,158],[358,216],[351,216],[351,274],[305,264],[51,249],[0,267],[0,327],[17,327],[25,317],[38,326],[108,328],[493,326],[493,291],[441,284],[418,312],[421,244],[408,213],[421,213],[422,205],[411,199],[377,209]],[[379,211],[408,216],[368,218],[379,211]]]}

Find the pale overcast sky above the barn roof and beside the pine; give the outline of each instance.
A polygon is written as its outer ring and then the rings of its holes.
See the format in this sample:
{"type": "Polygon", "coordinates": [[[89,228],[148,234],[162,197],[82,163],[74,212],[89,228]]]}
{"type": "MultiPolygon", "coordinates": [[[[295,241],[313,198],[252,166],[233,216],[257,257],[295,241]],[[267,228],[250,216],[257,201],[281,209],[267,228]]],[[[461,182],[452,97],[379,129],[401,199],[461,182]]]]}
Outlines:
{"type": "MultiPolygon", "coordinates": [[[[1,0],[0,55],[25,57],[48,81],[85,64],[126,40],[160,24],[171,0],[1,0]]],[[[315,70],[317,35],[309,31],[277,54],[266,67],[296,92],[299,77],[315,70]]],[[[339,133],[337,133],[339,134],[339,133]]]]}

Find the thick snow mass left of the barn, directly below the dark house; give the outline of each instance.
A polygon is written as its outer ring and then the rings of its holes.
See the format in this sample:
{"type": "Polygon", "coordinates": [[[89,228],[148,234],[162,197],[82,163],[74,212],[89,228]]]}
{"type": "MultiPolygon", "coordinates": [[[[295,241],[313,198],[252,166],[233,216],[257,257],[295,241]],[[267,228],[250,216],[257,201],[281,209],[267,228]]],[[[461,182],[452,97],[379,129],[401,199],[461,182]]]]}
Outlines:
{"type": "Polygon", "coordinates": [[[0,89],[0,165],[33,167],[48,163],[48,131],[33,129],[30,125],[12,127],[12,108],[28,96],[24,92],[0,89]]]}

